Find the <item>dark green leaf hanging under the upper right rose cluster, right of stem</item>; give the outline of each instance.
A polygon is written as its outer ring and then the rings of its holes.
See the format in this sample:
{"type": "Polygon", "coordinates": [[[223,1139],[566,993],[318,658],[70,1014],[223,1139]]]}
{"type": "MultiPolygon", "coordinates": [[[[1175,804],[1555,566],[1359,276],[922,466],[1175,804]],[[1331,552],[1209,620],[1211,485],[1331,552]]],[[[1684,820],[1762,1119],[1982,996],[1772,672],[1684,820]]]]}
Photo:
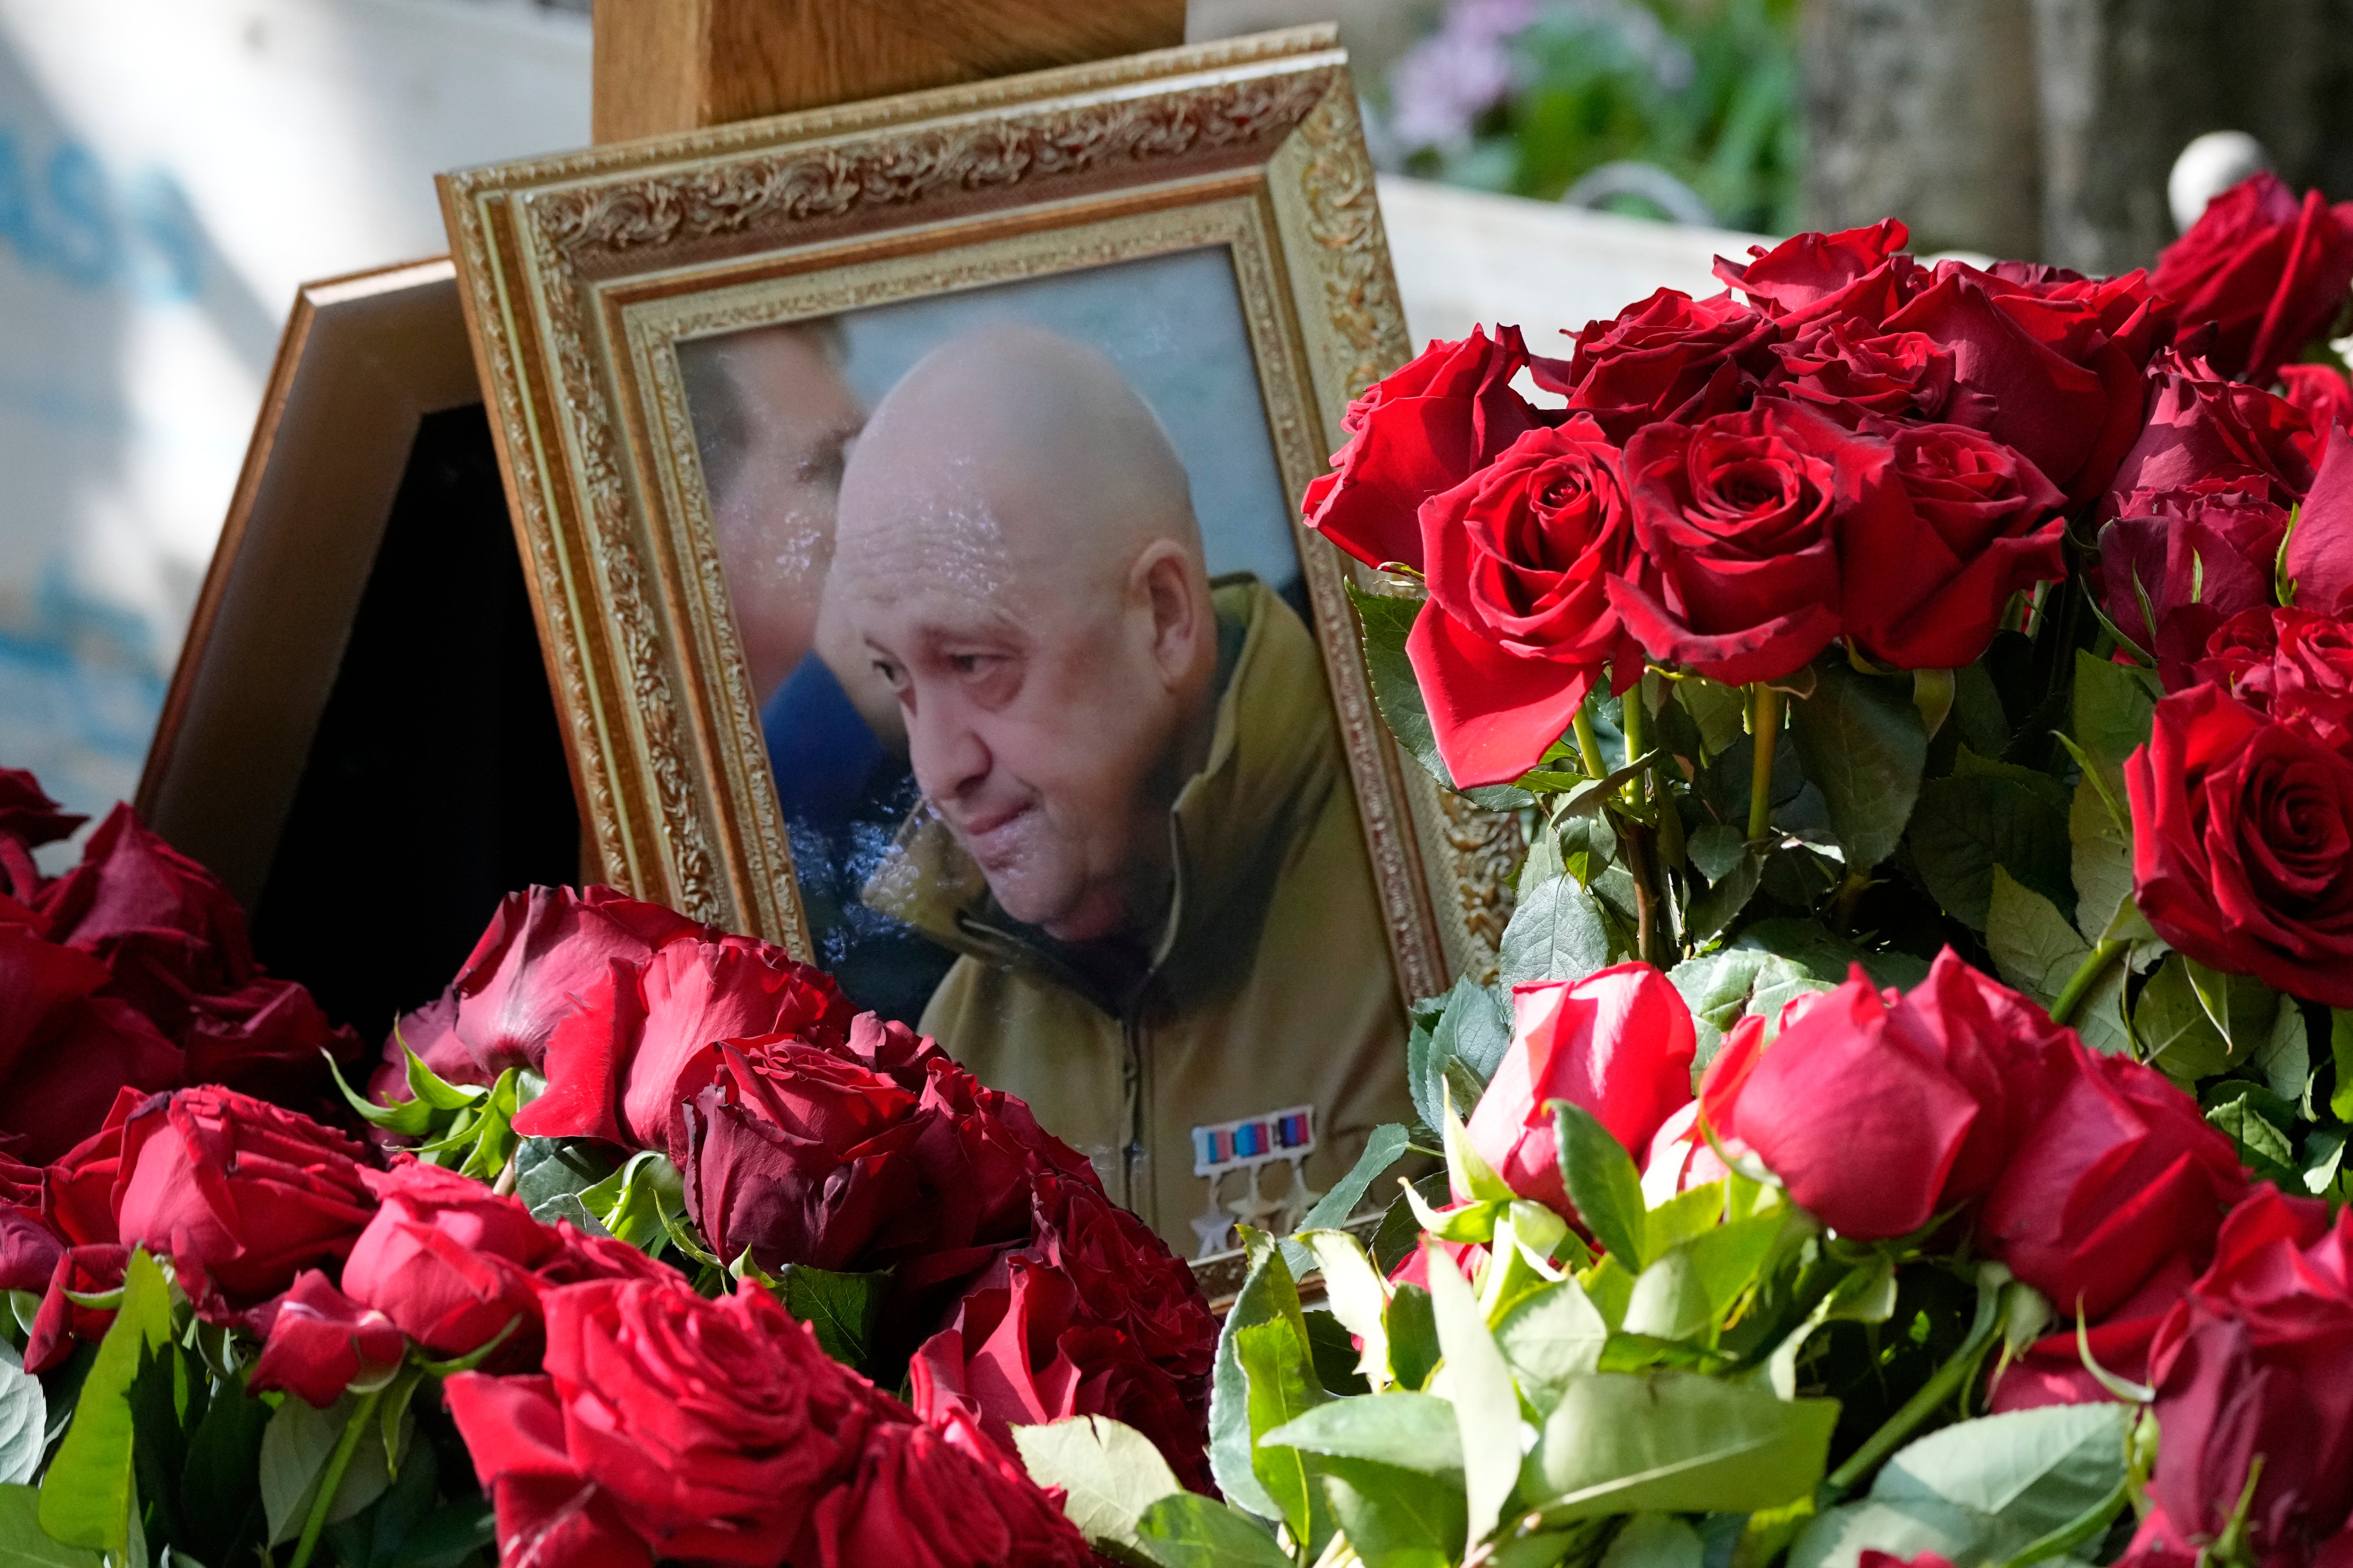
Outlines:
{"type": "Polygon", "coordinates": [[[1821,663],[1817,677],[1814,693],[1791,703],[1788,729],[1805,776],[1831,809],[1847,870],[1866,872],[1897,851],[1920,799],[1927,729],[1911,682],[1861,675],[1845,663],[1821,663]]]}

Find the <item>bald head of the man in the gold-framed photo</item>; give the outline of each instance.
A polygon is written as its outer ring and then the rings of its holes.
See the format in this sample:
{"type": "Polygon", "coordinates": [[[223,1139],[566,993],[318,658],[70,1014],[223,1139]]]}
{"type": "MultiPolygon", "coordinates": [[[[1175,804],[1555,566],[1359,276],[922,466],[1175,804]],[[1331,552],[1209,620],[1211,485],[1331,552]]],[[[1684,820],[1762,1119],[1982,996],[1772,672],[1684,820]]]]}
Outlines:
{"type": "Polygon", "coordinates": [[[1184,465],[1108,360],[1035,327],[920,360],[849,456],[826,616],[1007,912],[1089,940],[1165,905],[1217,618],[1184,465]]]}

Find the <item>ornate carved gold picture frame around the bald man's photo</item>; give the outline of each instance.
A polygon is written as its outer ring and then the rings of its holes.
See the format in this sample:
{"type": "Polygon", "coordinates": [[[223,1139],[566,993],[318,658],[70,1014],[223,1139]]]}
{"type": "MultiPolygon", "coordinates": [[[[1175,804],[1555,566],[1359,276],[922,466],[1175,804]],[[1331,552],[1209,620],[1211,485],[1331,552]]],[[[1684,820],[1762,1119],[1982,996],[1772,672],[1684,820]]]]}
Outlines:
{"type": "Polygon", "coordinates": [[[1329,28],[468,169],[442,176],[442,205],[584,877],[602,863],[642,898],[812,952],[729,609],[708,418],[689,407],[696,343],[1217,254],[1398,994],[1492,964],[1511,823],[1400,766],[1344,590],[1353,567],[1297,524],[1348,402],[1409,353],[1329,28]]]}

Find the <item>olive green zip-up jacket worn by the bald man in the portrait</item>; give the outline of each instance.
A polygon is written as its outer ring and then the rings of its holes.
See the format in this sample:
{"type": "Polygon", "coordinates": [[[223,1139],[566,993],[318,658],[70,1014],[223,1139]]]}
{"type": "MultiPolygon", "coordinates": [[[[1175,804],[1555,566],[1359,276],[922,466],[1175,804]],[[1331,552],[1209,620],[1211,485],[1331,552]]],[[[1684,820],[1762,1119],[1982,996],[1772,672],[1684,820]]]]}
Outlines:
{"type": "MultiPolygon", "coordinates": [[[[1381,1121],[1409,1121],[1405,1009],[1315,639],[1249,576],[1219,578],[1240,654],[1209,762],[1169,811],[1174,900],[1125,971],[1014,924],[918,809],[866,900],[962,957],[922,1013],[960,1063],[1085,1152],[1179,1255],[1209,1182],[1193,1128],[1315,1107],[1325,1192],[1381,1121]]],[[[1268,1194],[1282,1175],[1268,1171],[1268,1194]]],[[[1245,1180],[1228,1175],[1224,1197],[1245,1180]]]]}

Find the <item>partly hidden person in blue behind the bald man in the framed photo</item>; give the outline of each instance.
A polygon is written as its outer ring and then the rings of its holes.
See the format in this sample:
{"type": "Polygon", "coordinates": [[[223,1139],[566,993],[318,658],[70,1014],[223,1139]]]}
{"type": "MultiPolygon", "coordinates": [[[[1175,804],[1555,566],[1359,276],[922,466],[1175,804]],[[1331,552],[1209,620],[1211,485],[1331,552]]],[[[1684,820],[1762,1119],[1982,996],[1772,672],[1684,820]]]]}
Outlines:
{"type": "Polygon", "coordinates": [[[819,618],[866,423],[847,360],[840,317],[809,317],[687,343],[678,367],[816,959],[859,1006],[915,1018],[955,954],[859,898],[915,804],[906,729],[819,618]]]}

